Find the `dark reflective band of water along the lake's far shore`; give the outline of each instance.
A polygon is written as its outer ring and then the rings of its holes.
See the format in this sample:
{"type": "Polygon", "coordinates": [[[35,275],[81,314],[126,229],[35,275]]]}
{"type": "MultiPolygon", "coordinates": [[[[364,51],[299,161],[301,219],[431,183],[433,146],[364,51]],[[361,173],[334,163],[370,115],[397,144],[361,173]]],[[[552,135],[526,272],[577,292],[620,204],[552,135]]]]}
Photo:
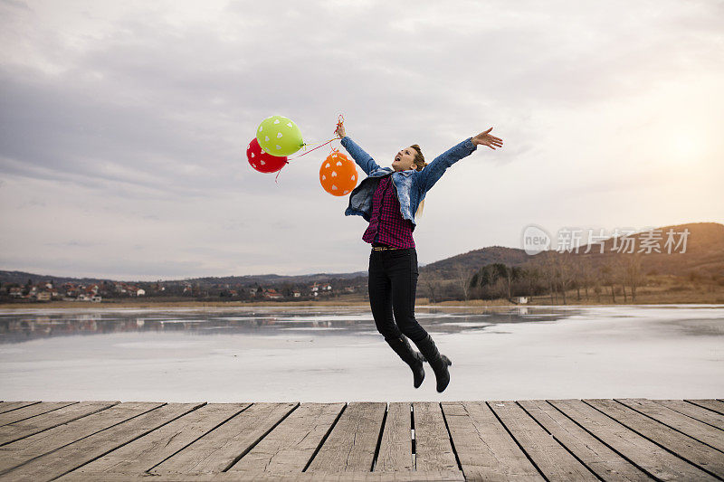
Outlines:
{"type": "MultiPolygon", "coordinates": [[[[500,323],[551,321],[570,317],[576,310],[556,307],[418,308],[415,316],[435,332],[482,330],[500,323]],[[455,311],[452,309],[452,311],[455,311]]],[[[0,311],[0,344],[19,343],[53,336],[124,332],[188,332],[197,335],[274,335],[287,330],[346,333],[376,331],[365,307],[253,307],[176,309],[67,309],[0,311]]]]}

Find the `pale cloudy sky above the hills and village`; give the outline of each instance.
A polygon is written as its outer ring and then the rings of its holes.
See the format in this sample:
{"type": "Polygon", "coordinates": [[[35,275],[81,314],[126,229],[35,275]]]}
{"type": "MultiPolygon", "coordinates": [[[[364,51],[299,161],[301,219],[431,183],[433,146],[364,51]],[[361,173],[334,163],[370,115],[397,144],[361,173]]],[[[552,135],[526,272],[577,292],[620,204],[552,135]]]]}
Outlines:
{"type": "Polygon", "coordinates": [[[367,269],[367,222],[319,184],[329,146],[278,182],[247,162],[275,114],[312,143],[343,113],[380,165],[493,128],[428,193],[421,264],[529,224],[722,222],[722,24],[715,0],[0,0],[0,269],[367,269]]]}

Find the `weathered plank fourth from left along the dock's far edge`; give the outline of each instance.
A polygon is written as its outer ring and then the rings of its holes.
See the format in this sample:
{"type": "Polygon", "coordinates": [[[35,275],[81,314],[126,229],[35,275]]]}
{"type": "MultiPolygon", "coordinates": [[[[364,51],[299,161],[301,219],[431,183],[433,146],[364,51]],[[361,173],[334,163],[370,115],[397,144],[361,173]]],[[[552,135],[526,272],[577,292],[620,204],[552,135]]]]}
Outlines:
{"type": "Polygon", "coordinates": [[[88,437],[101,430],[108,430],[114,425],[138,417],[138,415],[152,411],[161,405],[163,405],[162,402],[119,403],[110,407],[110,409],[90,414],[87,417],[3,445],[0,447],[0,474],[32,458],[60,449],[64,445],[88,437]]]}

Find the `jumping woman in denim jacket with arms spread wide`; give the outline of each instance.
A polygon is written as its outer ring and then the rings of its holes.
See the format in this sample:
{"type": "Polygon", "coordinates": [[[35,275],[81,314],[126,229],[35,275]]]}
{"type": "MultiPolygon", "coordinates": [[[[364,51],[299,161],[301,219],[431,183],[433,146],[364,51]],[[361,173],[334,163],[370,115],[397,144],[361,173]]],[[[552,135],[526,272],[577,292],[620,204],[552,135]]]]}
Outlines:
{"type": "Polygon", "coordinates": [[[369,254],[369,305],[377,331],[402,360],[410,365],[414,388],[424,380],[423,362],[433,367],[437,391],[443,392],[450,383],[448,365],[452,362],[440,354],[433,338],[414,318],[414,295],[417,288],[417,251],[414,248],[414,217],[423,207],[425,194],[442,177],[445,170],[470,156],[479,145],[491,149],[503,141],[491,136],[492,128],[475,137],[468,137],[457,146],[424,162],[420,146],[405,147],[395,156],[390,167],[380,167],[360,146],[347,136],[344,124],[337,135],[349,155],[355,159],[367,177],[349,194],[345,215],[362,216],[369,226],[362,240],[372,245],[369,254]],[[413,214],[414,213],[414,214],[413,214]],[[394,318],[393,318],[394,315],[394,318]],[[396,321],[396,323],[395,323],[396,321]],[[420,353],[410,346],[408,338],[420,353]]]}

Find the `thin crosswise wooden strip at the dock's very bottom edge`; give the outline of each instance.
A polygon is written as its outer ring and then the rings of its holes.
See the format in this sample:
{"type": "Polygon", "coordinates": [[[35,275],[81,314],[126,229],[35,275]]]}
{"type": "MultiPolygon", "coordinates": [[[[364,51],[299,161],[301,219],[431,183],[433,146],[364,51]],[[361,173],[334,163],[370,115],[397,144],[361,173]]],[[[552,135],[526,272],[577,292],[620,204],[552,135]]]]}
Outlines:
{"type": "MultiPolygon", "coordinates": [[[[138,476],[131,474],[114,474],[104,473],[103,482],[141,482],[148,480],[153,482],[238,482],[246,481],[282,481],[282,482],[413,482],[413,481],[464,481],[462,472],[301,472],[299,474],[289,474],[286,476],[278,474],[253,474],[239,477],[238,472],[229,473],[221,472],[218,474],[200,474],[200,475],[184,475],[184,474],[165,474],[154,477],[138,476]]],[[[88,477],[81,474],[67,474],[57,478],[59,482],[88,482],[88,477]]]]}

